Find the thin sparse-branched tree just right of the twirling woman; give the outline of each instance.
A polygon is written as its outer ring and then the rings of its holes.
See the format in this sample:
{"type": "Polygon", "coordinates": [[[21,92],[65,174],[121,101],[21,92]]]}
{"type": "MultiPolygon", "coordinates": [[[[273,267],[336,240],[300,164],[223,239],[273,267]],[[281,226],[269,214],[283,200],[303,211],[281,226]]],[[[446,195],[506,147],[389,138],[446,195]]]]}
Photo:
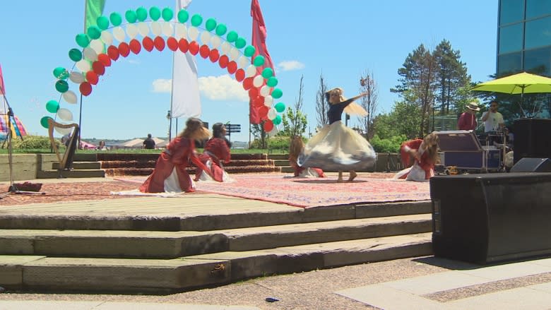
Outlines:
{"type": "Polygon", "coordinates": [[[379,90],[377,83],[373,79],[373,73],[367,72],[364,76],[360,76],[360,93],[367,93],[360,99],[360,105],[367,111],[365,117],[359,117],[361,131],[366,133],[366,138],[373,136],[373,119],[377,112],[377,100],[379,99],[379,90]]]}

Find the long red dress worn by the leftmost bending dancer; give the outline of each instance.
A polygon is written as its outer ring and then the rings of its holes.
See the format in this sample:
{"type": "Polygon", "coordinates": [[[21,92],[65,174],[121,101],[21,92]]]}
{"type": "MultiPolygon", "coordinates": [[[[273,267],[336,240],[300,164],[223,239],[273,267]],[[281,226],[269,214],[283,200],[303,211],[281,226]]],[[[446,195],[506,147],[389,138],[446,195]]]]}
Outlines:
{"type": "Polygon", "coordinates": [[[177,174],[182,191],[195,191],[194,183],[186,170],[190,161],[196,165],[203,165],[195,153],[194,141],[189,138],[174,138],[167,146],[167,150],[160,154],[155,170],[140,186],[140,191],[142,193],[164,192],[165,179],[170,177],[173,170],[177,174]]]}

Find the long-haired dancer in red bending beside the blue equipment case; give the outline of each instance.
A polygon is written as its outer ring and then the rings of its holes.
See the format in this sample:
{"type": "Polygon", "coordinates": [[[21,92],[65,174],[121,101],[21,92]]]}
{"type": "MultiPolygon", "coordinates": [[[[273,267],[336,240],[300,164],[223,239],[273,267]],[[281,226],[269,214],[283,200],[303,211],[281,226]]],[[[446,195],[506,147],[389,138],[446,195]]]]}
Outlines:
{"type": "Polygon", "coordinates": [[[424,139],[405,141],[400,148],[400,155],[404,166],[410,165],[410,157],[415,159],[413,166],[398,172],[394,179],[408,181],[428,181],[434,176],[434,164],[439,162],[437,153],[438,136],[429,133],[424,139]]]}

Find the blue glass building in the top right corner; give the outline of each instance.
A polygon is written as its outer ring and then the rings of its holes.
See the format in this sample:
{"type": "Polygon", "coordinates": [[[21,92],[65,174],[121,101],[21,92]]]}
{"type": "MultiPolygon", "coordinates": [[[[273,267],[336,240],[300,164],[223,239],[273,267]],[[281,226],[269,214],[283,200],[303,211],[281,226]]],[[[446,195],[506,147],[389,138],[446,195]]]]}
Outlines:
{"type": "Polygon", "coordinates": [[[497,75],[551,77],[551,0],[499,0],[497,75]]]}

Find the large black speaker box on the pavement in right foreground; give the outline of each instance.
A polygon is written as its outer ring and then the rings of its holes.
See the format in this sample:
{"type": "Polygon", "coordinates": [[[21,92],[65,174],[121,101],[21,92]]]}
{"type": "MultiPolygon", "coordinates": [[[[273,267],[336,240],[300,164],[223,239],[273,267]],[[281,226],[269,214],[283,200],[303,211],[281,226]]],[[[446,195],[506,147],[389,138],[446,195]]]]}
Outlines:
{"type": "Polygon", "coordinates": [[[551,173],[434,176],[434,255],[493,263],[551,254],[551,173]]]}

